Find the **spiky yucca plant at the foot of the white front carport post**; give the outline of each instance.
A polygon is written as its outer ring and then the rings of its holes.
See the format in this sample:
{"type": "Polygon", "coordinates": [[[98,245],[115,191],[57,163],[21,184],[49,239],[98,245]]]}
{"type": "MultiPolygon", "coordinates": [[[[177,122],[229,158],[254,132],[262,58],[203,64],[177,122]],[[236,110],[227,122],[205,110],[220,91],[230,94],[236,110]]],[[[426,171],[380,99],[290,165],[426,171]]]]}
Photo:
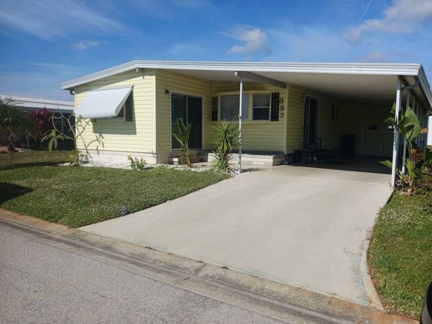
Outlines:
{"type": "Polygon", "coordinates": [[[229,161],[232,150],[240,145],[238,125],[222,120],[213,125],[213,134],[216,137],[212,143],[217,146],[215,150],[212,149],[215,157],[213,167],[223,172],[230,172],[229,161]]]}

